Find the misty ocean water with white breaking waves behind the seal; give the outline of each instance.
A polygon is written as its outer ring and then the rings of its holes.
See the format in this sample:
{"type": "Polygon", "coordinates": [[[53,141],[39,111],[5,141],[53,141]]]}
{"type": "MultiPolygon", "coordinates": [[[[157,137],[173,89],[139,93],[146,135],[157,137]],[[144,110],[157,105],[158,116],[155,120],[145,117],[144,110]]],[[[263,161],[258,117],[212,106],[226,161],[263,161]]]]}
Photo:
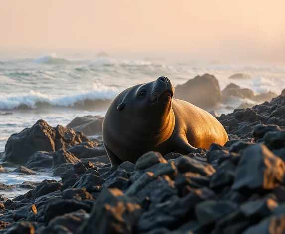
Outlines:
{"type": "MultiPolygon", "coordinates": [[[[214,75],[221,89],[235,83],[257,94],[272,91],[279,95],[285,88],[285,65],[198,62],[171,56],[100,58],[95,53],[0,52],[0,152],[4,151],[11,134],[31,127],[38,119],[55,127],[58,124],[66,126],[78,116],[104,116],[105,101],[132,85],[165,75],[175,86],[205,73],[214,75]],[[228,79],[240,72],[250,79],[228,79]]],[[[221,106],[215,111],[230,113],[243,101],[236,99],[230,104],[232,109],[221,106]]],[[[16,184],[45,178],[52,177],[4,173],[0,183],[16,184]]],[[[13,191],[11,195],[8,191],[0,191],[10,198],[21,193],[23,191],[13,191]]]]}

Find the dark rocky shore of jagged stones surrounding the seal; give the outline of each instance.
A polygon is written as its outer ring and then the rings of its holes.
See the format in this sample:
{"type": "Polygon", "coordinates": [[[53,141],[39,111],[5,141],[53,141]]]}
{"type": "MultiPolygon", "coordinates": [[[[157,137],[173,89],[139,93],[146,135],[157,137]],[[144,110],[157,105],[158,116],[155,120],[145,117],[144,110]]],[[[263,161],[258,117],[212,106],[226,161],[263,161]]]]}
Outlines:
{"type": "Polygon", "coordinates": [[[100,117],[77,118],[71,128],[37,121],[8,139],[0,171],[16,165],[61,179],[15,185],[30,190],[12,200],[0,196],[0,233],[284,233],[285,96],[217,119],[229,135],[224,146],[148,152],[113,167],[100,137],[84,134],[100,132],[100,117]]]}

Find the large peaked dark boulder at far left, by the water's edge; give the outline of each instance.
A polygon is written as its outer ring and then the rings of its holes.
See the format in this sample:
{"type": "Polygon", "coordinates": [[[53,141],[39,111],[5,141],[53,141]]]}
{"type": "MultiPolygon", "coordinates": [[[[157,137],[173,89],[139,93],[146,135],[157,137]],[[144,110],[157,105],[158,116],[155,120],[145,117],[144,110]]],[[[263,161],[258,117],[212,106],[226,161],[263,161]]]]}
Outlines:
{"type": "Polygon", "coordinates": [[[25,164],[37,151],[55,151],[55,130],[44,120],[38,120],[31,128],[10,136],[5,146],[4,160],[25,164]]]}

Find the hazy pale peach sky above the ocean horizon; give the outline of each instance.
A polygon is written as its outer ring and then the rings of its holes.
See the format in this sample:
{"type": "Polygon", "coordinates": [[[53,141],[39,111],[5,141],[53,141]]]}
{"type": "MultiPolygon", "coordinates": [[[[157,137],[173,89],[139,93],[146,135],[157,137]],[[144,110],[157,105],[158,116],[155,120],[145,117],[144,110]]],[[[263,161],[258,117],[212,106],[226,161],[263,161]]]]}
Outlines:
{"type": "Polygon", "coordinates": [[[285,41],[284,12],[285,0],[0,0],[0,47],[271,49],[285,41]]]}

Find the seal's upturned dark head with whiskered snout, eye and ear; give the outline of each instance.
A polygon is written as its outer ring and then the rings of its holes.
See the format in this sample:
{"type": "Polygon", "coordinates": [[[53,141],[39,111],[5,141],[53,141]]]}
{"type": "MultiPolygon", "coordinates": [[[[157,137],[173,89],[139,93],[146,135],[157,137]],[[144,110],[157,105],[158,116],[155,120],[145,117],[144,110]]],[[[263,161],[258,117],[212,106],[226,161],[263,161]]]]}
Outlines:
{"type": "Polygon", "coordinates": [[[172,82],[165,76],[155,81],[139,84],[125,90],[117,106],[119,112],[139,115],[144,119],[162,118],[171,109],[174,95],[172,82]],[[124,110],[126,109],[126,110],[124,110]]]}

